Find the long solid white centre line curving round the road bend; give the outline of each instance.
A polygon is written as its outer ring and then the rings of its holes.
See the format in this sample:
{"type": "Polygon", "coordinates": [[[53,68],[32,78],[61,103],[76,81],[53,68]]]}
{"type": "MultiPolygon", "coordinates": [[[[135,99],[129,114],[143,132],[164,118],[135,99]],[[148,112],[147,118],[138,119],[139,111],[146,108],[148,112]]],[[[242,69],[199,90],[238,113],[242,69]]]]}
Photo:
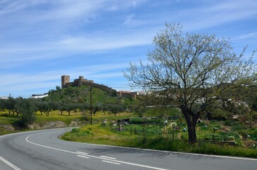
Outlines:
{"type": "MultiPolygon", "coordinates": [[[[34,134],[34,135],[36,135],[36,134],[34,134]]],[[[28,138],[32,137],[32,136],[33,135],[30,135],[30,136],[26,137],[26,139],[25,139],[30,144],[37,145],[39,147],[45,147],[45,148],[48,148],[48,149],[54,149],[54,150],[57,150],[57,151],[62,151],[62,152],[67,152],[67,153],[71,153],[71,154],[76,154],[79,157],[79,155],[78,155],[79,152],[67,151],[67,150],[64,150],[64,149],[58,149],[58,148],[55,148],[55,147],[48,147],[48,146],[45,146],[45,145],[40,145],[40,144],[37,144],[37,143],[34,143],[34,142],[30,142],[28,140],[28,138]]],[[[111,162],[115,162],[115,163],[122,163],[122,164],[129,164],[129,165],[134,165],[134,166],[140,166],[140,167],[149,168],[149,169],[167,170],[167,169],[157,168],[157,167],[154,167],[154,166],[147,166],[147,165],[142,165],[142,164],[134,164],[134,163],[130,163],[130,162],[121,162],[121,161],[118,161],[118,160],[109,159],[109,158],[105,158],[105,157],[96,157],[96,156],[89,155],[89,154],[86,154],[86,156],[87,157],[93,157],[93,158],[96,158],[96,159],[102,159],[102,160],[105,160],[105,161],[111,161],[111,162]]],[[[81,157],[84,157],[84,154],[82,154],[81,157]]]]}

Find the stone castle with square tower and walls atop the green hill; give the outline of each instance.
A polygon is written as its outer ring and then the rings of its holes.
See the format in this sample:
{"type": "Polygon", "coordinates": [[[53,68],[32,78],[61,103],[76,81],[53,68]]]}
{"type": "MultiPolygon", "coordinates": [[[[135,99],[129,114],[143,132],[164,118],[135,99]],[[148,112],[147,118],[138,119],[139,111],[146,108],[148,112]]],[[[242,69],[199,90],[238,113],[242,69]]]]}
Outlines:
{"type": "Polygon", "coordinates": [[[69,87],[69,86],[91,86],[98,89],[102,89],[103,91],[107,91],[108,93],[115,93],[118,97],[126,97],[126,98],[137,98],[137,92],[131,91],[116,91],[108,86],[96,84],[93,80],[84,79],[84,77],[80,76],[79,79],[74,79],[73,82],[69,81],[69,75],[62,76],[62,88],[69,87]]]}

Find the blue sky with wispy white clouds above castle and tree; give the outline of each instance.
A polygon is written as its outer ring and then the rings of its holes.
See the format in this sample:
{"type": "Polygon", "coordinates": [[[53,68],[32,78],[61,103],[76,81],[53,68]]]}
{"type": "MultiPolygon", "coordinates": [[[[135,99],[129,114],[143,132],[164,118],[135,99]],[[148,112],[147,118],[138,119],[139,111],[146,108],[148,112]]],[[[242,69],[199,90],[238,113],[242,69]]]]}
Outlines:
{"type": "Polygon", "coordinates": [[[257,50],[256,0],[1,0],[0,96],[46,93],[64,74],[130,90],[122,70],[165,23],[257,50]]]}

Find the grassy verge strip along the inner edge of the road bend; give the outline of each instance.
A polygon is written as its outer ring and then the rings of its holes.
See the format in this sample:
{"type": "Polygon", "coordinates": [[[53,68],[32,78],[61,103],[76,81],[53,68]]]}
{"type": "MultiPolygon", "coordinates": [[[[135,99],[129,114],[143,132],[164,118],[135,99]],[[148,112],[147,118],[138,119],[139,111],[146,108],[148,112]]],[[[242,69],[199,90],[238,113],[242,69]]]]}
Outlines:
{"type": "Polygon", "coordinates": [[[86,125],[81,128],[74,128],[71,132],[64,134],[62,139],[101,145],[257,158],[257,149],[215,145],[207,142],[189,145],[188,142],[178,139],[173,140],[171,137],[161,135],[131,135],[130,130],[118,132],[115,129],[102,127],[101,125],[86,125]]]}

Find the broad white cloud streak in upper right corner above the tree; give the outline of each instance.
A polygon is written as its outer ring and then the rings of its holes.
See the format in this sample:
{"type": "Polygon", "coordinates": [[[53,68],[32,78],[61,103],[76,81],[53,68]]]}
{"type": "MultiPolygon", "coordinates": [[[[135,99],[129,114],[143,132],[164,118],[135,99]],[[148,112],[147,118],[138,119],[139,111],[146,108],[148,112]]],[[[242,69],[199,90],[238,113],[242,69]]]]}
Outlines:
{"type": "Polygon", "coordinates": [[[186,9],[181,11],[177,18],[181,18],[186,23],[188,30],[198,30],[203,28],[212,28],[222,23],[240,21],[256,17],[257,1],[215,1],[210,6],[201,6],[200,8],[186,9]]]}

